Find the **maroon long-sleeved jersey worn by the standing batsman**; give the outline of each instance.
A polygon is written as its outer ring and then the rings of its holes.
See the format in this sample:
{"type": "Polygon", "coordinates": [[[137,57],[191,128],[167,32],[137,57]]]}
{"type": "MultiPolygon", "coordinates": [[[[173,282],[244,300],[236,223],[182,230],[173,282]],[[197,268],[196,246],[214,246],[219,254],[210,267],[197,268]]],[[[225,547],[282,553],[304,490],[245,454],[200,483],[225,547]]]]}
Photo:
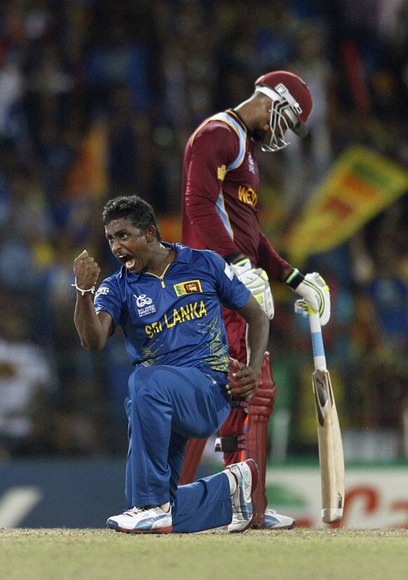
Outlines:
{"type": "Polygon", "coordinates": [[[259,231],[256,142],[234,111],[205,119],[186,144],[182,242],[222,256],[241,251],[281,280],[290,265],[259,231]]]}

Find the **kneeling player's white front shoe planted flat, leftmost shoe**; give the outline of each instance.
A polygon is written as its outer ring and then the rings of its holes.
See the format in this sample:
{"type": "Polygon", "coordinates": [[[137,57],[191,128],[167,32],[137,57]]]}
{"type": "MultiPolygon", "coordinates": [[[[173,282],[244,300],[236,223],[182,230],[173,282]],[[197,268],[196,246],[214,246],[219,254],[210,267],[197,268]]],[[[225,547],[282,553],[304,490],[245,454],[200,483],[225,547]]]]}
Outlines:
{"type": "Polygon", "coordinates": [[[134,507],[112,516],[107,527],[127,534],[168,534],[172,531],[172,511],[159,506],[134,507]]]}

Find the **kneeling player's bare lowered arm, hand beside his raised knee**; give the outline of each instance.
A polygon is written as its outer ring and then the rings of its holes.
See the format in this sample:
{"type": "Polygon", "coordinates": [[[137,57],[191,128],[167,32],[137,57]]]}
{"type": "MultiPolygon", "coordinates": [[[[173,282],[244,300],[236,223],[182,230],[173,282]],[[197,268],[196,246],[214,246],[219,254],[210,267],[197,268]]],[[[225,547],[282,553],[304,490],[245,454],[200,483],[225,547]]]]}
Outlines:
{"type": "Polygon", "coordinates": [[[237,312],[247,323],[248,361],[247,366],[235,372],[229,389],[231,394],[246,398],[257,390],[257,378],[268,346],[269,319],[253,296],[237,312]]]}

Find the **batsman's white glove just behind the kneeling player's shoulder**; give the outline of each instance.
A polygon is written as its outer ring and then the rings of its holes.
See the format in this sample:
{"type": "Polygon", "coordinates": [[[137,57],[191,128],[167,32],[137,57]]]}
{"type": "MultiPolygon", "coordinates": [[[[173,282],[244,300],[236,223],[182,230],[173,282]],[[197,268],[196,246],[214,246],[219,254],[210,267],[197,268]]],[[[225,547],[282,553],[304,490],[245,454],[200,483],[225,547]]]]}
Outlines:
{"type": "Polygon", "coordinates": [[[254,296],[261,309],[264,310],[268,319],[272,320],[275,314],[275,308],[273,306],[271,286],[269,286],[268,275],[265,270],[252,268],[252,264],[248,258],[243,258],[230,265],[238,280],[247,286],[247,289],[250,290],[252,296],[254,296]]]}

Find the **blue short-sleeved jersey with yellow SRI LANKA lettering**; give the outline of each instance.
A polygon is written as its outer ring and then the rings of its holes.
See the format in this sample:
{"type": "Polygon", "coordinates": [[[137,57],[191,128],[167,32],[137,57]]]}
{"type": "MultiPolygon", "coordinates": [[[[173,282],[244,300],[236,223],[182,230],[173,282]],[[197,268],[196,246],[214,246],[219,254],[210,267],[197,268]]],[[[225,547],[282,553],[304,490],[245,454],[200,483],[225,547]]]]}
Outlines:
{"type": "Polygon", "coordinates": [[[109,312],[122,327],[132,364],[228,373],[222,304],[242,308],[250,291],[215,252],[161,243],[176,252],[165,272],[135,274],[122,266],[97,290],[96,312],[109,312]]]}

